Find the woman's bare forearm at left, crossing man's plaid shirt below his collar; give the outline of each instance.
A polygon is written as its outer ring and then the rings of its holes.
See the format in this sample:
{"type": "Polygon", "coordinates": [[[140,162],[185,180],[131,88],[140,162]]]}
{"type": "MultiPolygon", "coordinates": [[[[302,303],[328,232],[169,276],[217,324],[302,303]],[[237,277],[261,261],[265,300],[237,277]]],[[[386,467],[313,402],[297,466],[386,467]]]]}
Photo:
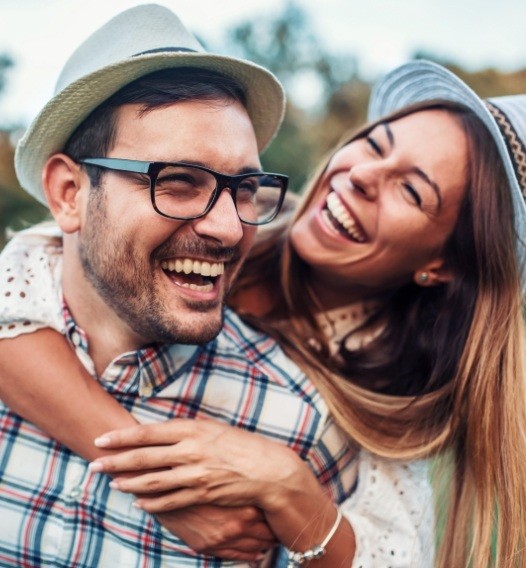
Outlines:
{"type": "Polygon", "coordinates": [[[0,376],[9,408],[87,460],[108,453],[97,436],[137,424],[52,329],[0,340],[0,376]]]}

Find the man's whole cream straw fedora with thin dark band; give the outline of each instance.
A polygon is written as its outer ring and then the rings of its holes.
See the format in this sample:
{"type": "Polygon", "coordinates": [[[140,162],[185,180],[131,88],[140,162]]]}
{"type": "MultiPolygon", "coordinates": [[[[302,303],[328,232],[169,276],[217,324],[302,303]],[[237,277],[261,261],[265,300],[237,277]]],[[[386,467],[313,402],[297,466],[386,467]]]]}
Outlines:
{"type": "Polygon", "coordinates": [[[66,62],[55,95],[34,119],[15,153],[22,187],[46,205],[41,184],[46,160],[59,152],[87,116],[124,85],[164,68],[199,67],[236,79],[245,89],[258,148],[276,135],[285,110],[283,87],[268,70],[205,51],[179,18],[157,4],[115,16],[66,62]]]}

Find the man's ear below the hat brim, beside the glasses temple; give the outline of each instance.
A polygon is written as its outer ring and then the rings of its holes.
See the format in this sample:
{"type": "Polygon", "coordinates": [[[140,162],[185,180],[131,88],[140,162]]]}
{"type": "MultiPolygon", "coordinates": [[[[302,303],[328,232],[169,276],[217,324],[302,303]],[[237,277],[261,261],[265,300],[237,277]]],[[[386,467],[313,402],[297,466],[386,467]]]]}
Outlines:
{"type": "Polygon", "coordinates": [[[53,154],[44,165],[44,193],[49,209],[64,233],[74,233],[80,229],[82,180],[79,165],[65,154],[53,154]]]}

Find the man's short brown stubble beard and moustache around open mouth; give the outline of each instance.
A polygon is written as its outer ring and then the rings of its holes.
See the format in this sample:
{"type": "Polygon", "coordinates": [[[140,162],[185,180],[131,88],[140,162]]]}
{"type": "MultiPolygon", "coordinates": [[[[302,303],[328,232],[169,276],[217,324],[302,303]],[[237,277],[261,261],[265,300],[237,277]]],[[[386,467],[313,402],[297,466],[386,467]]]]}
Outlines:
{"type": "MultiPolygon", "coordinates": [[[[215,338],[223,326],[223,306],[219,310],[210,310],[209,306],[200,302],[186,301],[185,307],[195,311],[196,315],[210,311],[209,321],[204,325],[201,323],[198,329],[178,321],[177,314],[172,313],[160,297],[159,286],[156,286],[159,274],[154,271],[152,259],[141,257],[140,251],[135,250],[124,235],[111,232],[105,201],[104,189],[93,188],[88,204],[88,222],[79,236],[79,256],[86,278],[106,305],[134,333],[143,337],[145,343],[202,344],[215,338]]],[[[185,256],[193,256],[192,252],[195,254],[203,248],[206,247],[199,242],[184,246],[179,246],[179,242],[176,246],[165,242],[153,251],[152,257],[160,257],[163,250],[180,250],[185,251],[185,256]]],[[[160,271],[160,268],[157,270],[160,271]]],[[[199,320],[202,322],[203,318],[199,320]]]]}

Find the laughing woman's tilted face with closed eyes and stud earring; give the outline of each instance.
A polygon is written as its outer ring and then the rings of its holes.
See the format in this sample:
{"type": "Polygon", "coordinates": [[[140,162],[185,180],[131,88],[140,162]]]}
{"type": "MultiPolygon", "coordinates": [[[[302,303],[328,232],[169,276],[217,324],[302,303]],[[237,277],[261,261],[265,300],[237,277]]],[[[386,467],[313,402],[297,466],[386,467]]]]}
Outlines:
{"type": "Polygon", "coordinates": [[[336,152],[292,228],[314,284],[337,305],[420,271],[445,278],[441,251],[458,217],[467,163],[466,134],[444,110],[380,124],[336,152]]]}

